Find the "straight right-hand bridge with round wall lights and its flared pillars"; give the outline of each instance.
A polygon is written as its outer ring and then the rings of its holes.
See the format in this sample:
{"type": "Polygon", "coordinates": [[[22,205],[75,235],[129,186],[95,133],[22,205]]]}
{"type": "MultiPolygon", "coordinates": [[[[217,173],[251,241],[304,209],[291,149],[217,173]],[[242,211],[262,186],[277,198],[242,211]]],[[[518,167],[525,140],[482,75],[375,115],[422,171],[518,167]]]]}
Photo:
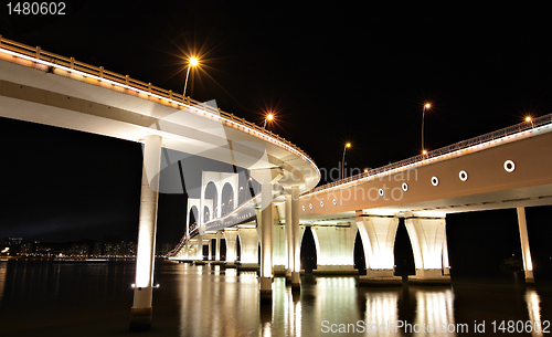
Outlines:
{"type": "MultiPolygon", "coordinates": [[[[353,245],[359,231],[368,268],[367,276],[360,277],[361,283],[396,284],[401,280],[393,275],[394,239],[399,219],[404,218],[416,266],[411,281],[443,284],[450,282],[446,214],[517,208],[526,277],[532,282],[524,207],[552,204],[551,171],[552,115],[545,115],[532,124],[521,123],[304,193],[299,199],[298,241],[305,227],[311,227],[318,261],[316,272],[355,273],[353,245]]],[[[294,243],[286,241],[294,242],[287,236],[293,231],[280,224],[291,221],[285,202],[276,200],[274,208],[275,270],[288,271],[289,256],[294,254],[289,249],[294,243]]],[[[247,209],[251,214],[251,206],[244,204],[226,218],[240,217],[247,209]]],[[[252,267],[257,261],[257,238],[241,228],[251,231],[255,219],[250,217],[244,222],[248,224],[238,225],[237,231],[225,230],[230,252],[226,264],[233,265],[236,255],[241,255],[242,263],[252,267]],[[248,248],[247,253],[235,252],[236,240],[248,248]]],[[[216,239],[216,244],[221,238],[220,232],[208,232],[204,236],[216,239]]],[[[211,244],[211,240],[206,242],[211,244]]],[[[203,259],[198,245],[194,239],[181,241],[171,259],[203,259]]],[[[300,243],[296,250],[300,250],[300,243]]],[[[220,260],[219,248],[215,251],[214,259],[220,260]]]]}

